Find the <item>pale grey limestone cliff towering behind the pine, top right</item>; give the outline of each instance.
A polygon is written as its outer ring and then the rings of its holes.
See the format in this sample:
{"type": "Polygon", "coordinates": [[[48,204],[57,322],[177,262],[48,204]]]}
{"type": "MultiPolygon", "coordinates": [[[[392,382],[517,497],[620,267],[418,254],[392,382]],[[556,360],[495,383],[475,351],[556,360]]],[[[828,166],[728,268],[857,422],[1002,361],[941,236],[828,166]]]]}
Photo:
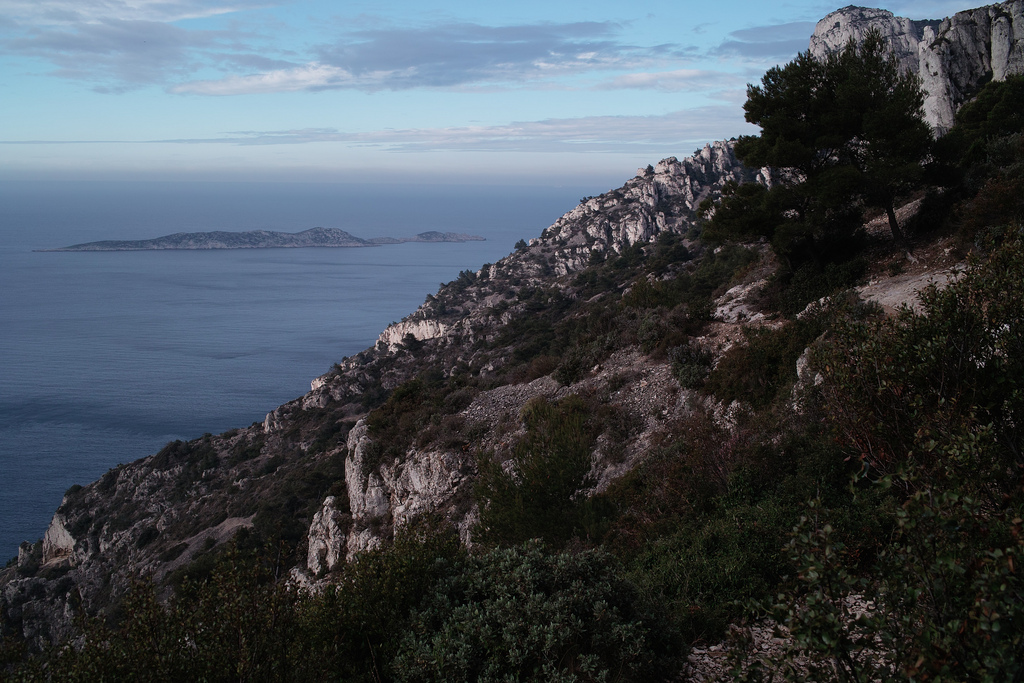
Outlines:
{"type": "Polygon", "coordinates": [[[810,51],[822,57],[872,29],[893,46],[903,68],[921,77],[925,118],[939,133],[949,130],[959,105],[986,82],[1024,73],[1024,0],[919,22],[884,9],[844,7],[818,22],[810,51]]]}

